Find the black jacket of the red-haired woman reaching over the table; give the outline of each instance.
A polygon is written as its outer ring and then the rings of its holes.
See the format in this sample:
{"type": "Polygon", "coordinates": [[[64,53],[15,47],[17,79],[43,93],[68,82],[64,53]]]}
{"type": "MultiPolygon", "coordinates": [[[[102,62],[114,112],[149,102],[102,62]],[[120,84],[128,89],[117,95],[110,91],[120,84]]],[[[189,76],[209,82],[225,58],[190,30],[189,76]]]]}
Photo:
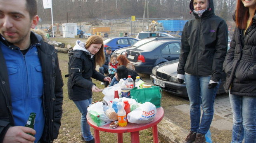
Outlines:
{"type": "Polygon", "coordinates": [[[69,52],[69,99],[78,101],[92,98],[92,78],[104,82],[105,75],[95,70],[95,58],[82,50],[69,52]]]}

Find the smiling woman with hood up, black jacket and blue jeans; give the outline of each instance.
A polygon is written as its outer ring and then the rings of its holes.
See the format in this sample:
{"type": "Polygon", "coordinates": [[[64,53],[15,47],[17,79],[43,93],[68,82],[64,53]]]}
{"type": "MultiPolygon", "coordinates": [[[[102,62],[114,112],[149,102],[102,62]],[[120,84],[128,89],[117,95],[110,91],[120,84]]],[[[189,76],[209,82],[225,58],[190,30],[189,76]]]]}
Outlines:
{"type": "Polygon", "coordinates": [[[188,21],[181,36],[178,80],[186,81],[190,99],[190,134],[183,143],[205,143],[213,119],[213,104],[227,53],[228,26],[214,14],[213,0],[191,0],[195,19],[188,21]],[[202,104],[201,104],[202,103],[202,104]],[[200,106],[203,115],[200,123],[200,106]]]}

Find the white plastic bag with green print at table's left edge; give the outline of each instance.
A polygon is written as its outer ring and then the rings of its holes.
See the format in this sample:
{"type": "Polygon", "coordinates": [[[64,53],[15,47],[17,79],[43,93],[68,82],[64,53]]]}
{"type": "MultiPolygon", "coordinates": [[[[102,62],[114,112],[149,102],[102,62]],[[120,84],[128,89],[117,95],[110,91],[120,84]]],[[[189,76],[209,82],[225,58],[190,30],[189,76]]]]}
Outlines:
{"type": "Polygon", "coordinates": [[[103,103],[97,102],[92,105],[90,105],[87,108],[88,113],[90,114],[90,117],[92,121],[99,127],[103,126],[105,124],[110,124],[114,120],[110,120],[107,115],[104,113],[103,110],[103,103]]]}

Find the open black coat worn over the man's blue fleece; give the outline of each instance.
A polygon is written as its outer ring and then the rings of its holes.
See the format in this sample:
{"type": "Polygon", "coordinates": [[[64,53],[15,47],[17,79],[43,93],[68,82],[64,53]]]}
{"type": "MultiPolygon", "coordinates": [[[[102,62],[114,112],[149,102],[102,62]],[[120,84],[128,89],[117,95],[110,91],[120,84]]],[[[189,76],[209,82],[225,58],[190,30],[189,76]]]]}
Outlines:
{"type": "MultiPolygon", "coordinates": [[[[1,35],[0,35],[1,38],[1,35]]],[[[52,143],[57,139],[62,117],[63,81],[59,69],[57,50],[43,41],[40,35],[31,32],[31,38],[37,39],[31,42],[39,43],[37,46],[38,57],[43,72],[43,108],[45,114],[45,127],[40,139],[41,143],[52,143]]],[[[6,131],[14,126],[12,114],[12,99],[9,88],[9,78],[5,58],[0,48],[0,143],[2,143],[6,131]]]]}

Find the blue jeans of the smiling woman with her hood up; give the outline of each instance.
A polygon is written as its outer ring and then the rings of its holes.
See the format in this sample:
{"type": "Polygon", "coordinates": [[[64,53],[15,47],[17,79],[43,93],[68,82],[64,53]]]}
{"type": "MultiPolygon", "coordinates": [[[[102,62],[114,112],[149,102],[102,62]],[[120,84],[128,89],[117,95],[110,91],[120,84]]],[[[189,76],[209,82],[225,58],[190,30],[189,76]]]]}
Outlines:
{"type": "Polygon", "coordinates": [[[187,94],[190,99],[190,130],[204,135],[210,129],[214,113],[213,104],[219,87],[218,84],[216,87],[208,89],[210,79],[209,76],[185,74],[187,94]],[[201,103],[203,115],[200,124],[201,103]]]}

